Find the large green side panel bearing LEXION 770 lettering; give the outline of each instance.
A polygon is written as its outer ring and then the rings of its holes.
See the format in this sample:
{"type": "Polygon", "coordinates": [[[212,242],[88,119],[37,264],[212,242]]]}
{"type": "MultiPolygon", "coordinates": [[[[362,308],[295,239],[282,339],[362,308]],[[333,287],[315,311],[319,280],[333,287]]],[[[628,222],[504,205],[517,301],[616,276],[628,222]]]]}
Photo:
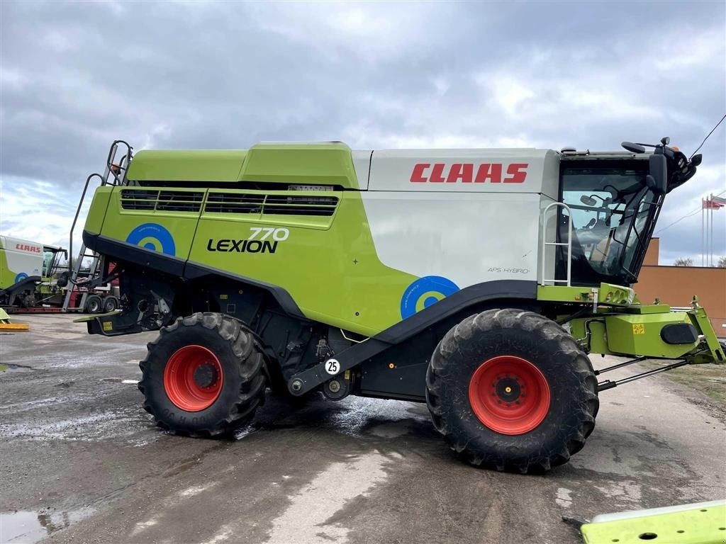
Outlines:
{"type": "MultiPolygon", "coordinates": [[[[315,321],[365,336],[401,321],[401,296],[417,276],[380,262],[358,191],[325,191],[323,196],[338,197],[339,202],[334,215],[321,216],[125,210],[121,207],[122,189],[113,188],[107,209],[110,219],[102,226],[102,236],[125,242],[135,228],[154,223],[173,233],[174,257],[282,287],[303,314],[315,321]],[[266,228],[287,229],[289,234],[275,244],[266,228]],[[263,240],[265,234],[269,236],[264,242],[269,244],[264,252],[224,251],[231,245],[229,240],[263,240]]],[[[321,196],[309,191],[208,189],[204,191],[205,201],[219,192],[260,197],[321,196]]],[[[142,247],[146,244],[153,246],[147,250],[163,250],[152,238],[137,243],[142,247]]]]}

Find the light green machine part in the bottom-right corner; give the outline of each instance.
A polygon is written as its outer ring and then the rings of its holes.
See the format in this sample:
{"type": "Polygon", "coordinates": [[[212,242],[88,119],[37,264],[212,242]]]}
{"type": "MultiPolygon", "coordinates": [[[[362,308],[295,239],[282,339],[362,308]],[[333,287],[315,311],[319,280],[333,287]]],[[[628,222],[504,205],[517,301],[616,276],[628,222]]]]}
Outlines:
{"type": "Polygon", "coordinates": [[[641,544],[650,540],[678,544],[724,544],[724,527],[726,502],[664,514],[622,516],[621,519],[587,523],[580,530],[585,544],[641,544]]]}

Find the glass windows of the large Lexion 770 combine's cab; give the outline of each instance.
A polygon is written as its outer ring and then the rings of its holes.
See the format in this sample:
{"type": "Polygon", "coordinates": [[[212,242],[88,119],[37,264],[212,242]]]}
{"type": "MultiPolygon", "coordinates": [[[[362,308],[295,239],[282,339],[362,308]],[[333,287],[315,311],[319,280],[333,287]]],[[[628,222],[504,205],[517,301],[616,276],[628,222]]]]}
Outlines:
{"type": "MultiPolygon", "coordinates": [[[[627,168],[563,168],[562,202],[572,219],[572,283],[636,281],[661,200],[646,186],[647,175],[627,168]]],[[[566,242],[562,215],[559,237],[566,242]]],[[[560,251],[558,268],[564,267],[566,255],[560,251]]]]}

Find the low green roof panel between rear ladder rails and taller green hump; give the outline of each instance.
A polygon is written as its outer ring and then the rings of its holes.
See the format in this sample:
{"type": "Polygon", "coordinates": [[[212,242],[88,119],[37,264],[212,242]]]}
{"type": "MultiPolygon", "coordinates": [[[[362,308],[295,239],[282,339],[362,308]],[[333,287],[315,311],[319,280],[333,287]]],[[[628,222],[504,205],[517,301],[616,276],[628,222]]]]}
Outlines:
{"type": "Polygon", "coordinates": [[[237,181],[245,150],[146,149],[134,154],[126,177],[133,181],[237,181]]]}

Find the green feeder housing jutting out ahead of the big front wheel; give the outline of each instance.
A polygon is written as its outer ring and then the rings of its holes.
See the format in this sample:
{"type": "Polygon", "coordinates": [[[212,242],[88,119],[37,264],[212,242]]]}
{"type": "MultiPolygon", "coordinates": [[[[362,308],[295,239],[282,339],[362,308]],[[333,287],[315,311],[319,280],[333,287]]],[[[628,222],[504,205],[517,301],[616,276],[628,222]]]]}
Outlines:
{"type": "Polygon", "coordinates": [[[685,312],[626,314],[605,318],[608,349],[611,353],[623,355],[645,355],[646,357],[677,359],[690,353],[693,344],[666,344],[661,339],[661,329],[671,323],[690,323],[685,312]]]}

